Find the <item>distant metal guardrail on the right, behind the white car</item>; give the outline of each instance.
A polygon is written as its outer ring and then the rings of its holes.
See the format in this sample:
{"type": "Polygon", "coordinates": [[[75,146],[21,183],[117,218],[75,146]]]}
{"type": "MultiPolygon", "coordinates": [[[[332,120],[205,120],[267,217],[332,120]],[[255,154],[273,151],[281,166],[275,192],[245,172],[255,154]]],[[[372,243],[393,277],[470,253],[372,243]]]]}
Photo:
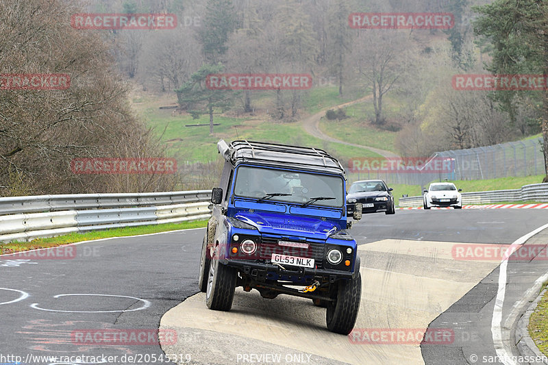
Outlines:
{"type": "MultiPolygon", "coordinates": [[[[528,200],[548,202],[548,183],[525,185],[513,190],[462,193],[462,204],[493,204],[501,201],[528,200]]],[[[423,197],[399,198],[400,207],[419,207],[421,205],[423,205],[423,197]]]]}

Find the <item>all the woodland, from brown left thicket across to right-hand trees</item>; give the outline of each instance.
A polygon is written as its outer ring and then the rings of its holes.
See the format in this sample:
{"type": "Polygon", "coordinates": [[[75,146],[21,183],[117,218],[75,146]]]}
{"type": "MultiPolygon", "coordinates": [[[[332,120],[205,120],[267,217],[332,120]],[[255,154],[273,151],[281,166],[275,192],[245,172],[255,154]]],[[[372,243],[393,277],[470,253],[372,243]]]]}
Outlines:
{"type": "MultiPolygon", "coordinates": [[[[548,133],[545,93],[463,92],[451,84],[459,74],[546,74],[538,30],[548,28],[546,9],[534,0],[2,1],[0,73],[69,74],[71,87],[0,90],[0,194],[180,187],[176,174],[84,176],[69,166],[74,158],[164,155],[129,105],[132,88],[173,95],[179,112],[195,116],[252,112],[253,92],[206,87],[214,73],[308,74],[312,87],[329,79],[341,97],[373,95],[368,123],[397,132],[401,155],[548,133]],[[75,29],[71,16],[84,12],[175,14],[177,27],[75,29]],[[353,29],[355,12],[444,12],[454,26],[353,29]],[[399,105],[390,118],[387,97],[399,105]]],[[[276,90],[271,118],[298,121],[307,92],[276,90]]]]}

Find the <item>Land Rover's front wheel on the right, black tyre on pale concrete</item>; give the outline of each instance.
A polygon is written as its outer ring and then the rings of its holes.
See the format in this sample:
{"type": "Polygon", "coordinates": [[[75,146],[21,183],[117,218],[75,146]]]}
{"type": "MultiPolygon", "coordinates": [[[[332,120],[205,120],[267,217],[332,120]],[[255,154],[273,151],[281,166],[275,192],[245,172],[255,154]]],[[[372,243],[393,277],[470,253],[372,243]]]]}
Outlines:
{"type": "Polygon", "coordinates": [[[329,331],[347,335],[352,331],[360,310],[362,296],[362,277],[340,281],[336,293],[336,301],[329,302],[325,320],[329,331]]]}

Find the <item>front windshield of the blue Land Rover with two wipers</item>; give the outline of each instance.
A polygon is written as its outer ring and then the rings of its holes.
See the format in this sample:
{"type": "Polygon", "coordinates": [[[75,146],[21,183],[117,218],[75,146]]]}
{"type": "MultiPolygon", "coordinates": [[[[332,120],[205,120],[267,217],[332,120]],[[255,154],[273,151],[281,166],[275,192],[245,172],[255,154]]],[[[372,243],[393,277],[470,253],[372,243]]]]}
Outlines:
{"type": "Polygon", "coordinates": [[[345,197],[341,177],[249,166],[238,168],[234,194],[297,204],[308,203],[312,198],[334,198],[313,200],[307,204],[328,207],[342,207],[345,197]]]}

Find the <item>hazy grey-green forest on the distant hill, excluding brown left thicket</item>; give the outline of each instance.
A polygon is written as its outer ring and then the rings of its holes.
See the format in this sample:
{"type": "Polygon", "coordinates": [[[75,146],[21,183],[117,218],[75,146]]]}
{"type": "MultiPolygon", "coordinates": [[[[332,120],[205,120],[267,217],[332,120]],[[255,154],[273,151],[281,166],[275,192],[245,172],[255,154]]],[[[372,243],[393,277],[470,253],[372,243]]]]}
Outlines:
{"type": "MultiPolygon", "coordinates": [[[[511,105],[501,106],[490,92],[462,92],[451,85],[453,75],[491,71],[493,44],[487,34],[474,32],[473,25],[480,15],[473,7],[487,3],[124,0],[100,1],[92,10],[177,14],[179,27],[173,31],[110,36],[119,45],[116,59],[125,77],[145,89],[176,90],[183,108],[192,109],[188,102],[193,99],[180,94],[193,86],[188,81],[203,72],[204,65],[211,72],[310,73],[316,80],[334,81],[340,95],[358,99],[373,93],[371,123],[399,131],[402,155],[429,155],[540,132],[539,111],[531,108],[538,95],[514,95],[511,105]],[[354,12],[449,12],[455,21],[451,29],[351,29],[348,18],[354,12]],[[392,120],[382,109],[386,95],[401,105],[392,120]]],[[[303,93],[306,90],[277,92],[273,117],[295,120],[303,93]]],[[[253,92],[232,94],[225,93],[212,105],[252,110],[253,92]]],[[[199,97],[203,95],[195,99],[199,97]]],[[[201,105],[203,110],[207,106],[201,105]]]]}

